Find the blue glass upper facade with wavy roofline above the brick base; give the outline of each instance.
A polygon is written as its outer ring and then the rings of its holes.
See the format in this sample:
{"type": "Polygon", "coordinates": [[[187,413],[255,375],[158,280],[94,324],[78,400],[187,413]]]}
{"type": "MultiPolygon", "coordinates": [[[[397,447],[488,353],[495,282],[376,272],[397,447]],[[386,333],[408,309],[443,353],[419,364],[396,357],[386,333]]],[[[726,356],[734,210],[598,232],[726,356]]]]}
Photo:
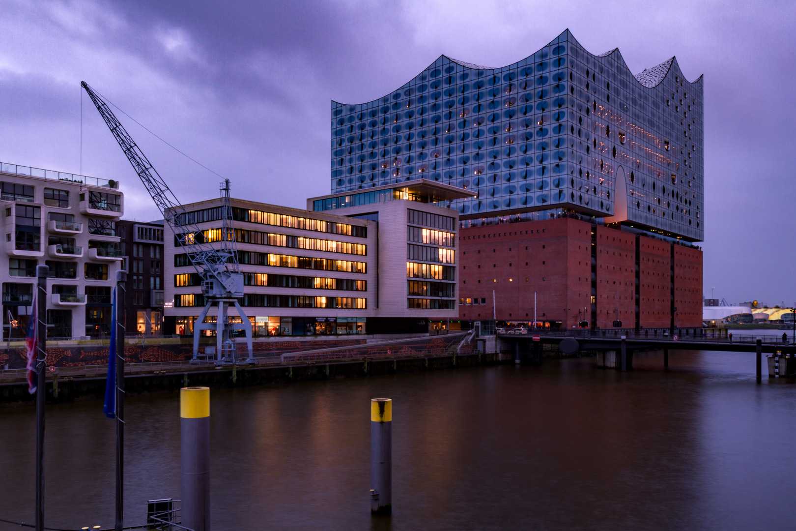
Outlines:
{"type": "MultiPolygon", "coordinates": [[[[465,220],[557,210],[700,241],[702,88],[674,58],[634,76],[569,31],[503,68],[442,56],[378,100],[332,102],[332,193],[427,178],[478,193],[452,203],[465,220]]],[[[361,194],[346,201],[380,200],[361,194]]]]}

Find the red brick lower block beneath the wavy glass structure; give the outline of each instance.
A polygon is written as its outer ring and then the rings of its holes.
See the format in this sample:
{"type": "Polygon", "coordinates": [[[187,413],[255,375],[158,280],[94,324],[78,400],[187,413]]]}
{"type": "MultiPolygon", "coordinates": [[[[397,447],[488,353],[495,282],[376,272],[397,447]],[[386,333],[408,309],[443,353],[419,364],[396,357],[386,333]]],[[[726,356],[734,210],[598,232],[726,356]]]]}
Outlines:
{"type": "Polygon", "coordinates": [[[701,326],[702,252],[650,236],[571,217],[462,228],[459,317],[529,322],[536,295],[544,326],[701,326]]]}

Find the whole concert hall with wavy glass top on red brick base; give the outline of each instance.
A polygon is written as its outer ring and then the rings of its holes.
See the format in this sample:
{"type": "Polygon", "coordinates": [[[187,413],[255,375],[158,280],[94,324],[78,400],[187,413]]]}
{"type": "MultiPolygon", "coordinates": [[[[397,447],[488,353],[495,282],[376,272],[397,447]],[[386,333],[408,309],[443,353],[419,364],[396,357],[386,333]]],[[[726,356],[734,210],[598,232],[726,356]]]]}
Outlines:
{"type": "Polygon", "coordinates": [[[451,201],[460,318],[700,326],[703,79],[674,57],[634,75],[567,30],[501,68],[441,56],[331,119],[333,193],[471,193],[451,201]]]}

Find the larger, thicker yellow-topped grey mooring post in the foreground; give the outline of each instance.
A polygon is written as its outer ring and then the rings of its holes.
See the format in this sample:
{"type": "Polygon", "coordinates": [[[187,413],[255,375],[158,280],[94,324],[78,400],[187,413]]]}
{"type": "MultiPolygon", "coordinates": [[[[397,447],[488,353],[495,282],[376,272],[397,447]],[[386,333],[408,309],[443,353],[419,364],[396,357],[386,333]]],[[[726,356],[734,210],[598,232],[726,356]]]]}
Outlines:
{"type": "Polygon", "coordinates": [[[180,389],[182,524],[210,529],[210,388],[180,389]]]}

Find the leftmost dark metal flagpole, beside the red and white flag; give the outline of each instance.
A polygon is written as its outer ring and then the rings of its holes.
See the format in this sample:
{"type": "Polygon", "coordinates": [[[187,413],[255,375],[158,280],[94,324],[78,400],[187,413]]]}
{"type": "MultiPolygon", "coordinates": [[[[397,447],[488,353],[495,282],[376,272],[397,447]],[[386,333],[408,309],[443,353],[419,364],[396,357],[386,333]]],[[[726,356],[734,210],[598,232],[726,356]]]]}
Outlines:
{"type": "MultiPolygon", "coordinates": [[[[36,531],[45,529],[45,372],[47,370],[47,277],[48,266],[36,266],[36,531]]],[[[33,316],[30,316],[33,317],[33,316]]]]}

